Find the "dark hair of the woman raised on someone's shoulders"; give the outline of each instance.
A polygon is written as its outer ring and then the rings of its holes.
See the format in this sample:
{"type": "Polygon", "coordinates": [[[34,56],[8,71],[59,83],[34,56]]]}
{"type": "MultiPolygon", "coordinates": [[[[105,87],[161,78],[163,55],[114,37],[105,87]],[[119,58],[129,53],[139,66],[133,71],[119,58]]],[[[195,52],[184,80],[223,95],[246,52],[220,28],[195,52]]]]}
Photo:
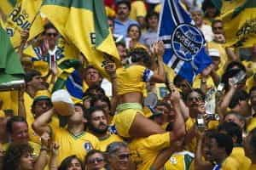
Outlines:
{"type": "Polygon", "coordinates": [[[143,62],[145,65],[149,65],[150,57],[146,49],[144,48],[133,48],[127,54],[128,57],[131,57],[131,62],[143,62]]]}

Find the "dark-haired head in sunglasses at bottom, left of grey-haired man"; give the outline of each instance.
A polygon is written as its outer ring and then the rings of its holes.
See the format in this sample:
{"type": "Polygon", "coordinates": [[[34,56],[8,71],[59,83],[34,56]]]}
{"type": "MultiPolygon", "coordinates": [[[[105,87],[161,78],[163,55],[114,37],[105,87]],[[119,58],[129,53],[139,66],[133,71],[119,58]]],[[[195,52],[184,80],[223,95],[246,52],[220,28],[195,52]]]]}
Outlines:
{"type": "Polygon", "coordinates": [[[106,158],[101,150],[90,150],[85,156],[85,170],[103,170],[106,169],[106,158]]]}

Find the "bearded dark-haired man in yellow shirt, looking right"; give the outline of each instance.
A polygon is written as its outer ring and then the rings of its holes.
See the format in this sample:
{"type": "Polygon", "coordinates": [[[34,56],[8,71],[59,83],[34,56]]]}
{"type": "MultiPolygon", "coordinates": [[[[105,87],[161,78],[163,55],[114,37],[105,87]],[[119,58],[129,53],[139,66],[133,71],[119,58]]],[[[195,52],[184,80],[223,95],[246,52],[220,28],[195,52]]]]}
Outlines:
{"type": "Polygon", "coordinates": [[[123,141],[118,135],[108,133],[107,114],[102,107],[90,107],[86,111],[88,130],[99,139],[102,151],[106,151],[108,144],[123,141]]]}

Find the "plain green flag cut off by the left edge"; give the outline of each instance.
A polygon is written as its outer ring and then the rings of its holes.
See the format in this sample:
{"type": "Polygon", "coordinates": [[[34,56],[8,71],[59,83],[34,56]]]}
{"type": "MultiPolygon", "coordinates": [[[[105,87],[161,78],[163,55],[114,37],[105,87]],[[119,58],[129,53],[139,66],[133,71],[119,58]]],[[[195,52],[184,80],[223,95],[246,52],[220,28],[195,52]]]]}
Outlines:
{"type": "Polygon", "coordinates": [[[0,85],[23,79],[23,76],[19,56],[6,31],[0,26],[0,85]]]}

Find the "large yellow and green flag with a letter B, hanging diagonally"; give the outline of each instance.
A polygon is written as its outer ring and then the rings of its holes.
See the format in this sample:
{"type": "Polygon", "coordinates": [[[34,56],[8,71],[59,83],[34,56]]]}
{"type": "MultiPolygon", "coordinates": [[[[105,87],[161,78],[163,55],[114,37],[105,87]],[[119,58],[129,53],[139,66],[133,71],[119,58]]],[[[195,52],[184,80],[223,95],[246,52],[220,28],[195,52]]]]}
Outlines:
{"type": "Polygon", "coordinates": [[[106,55],[119,63],[119,54],[102,0],[45,0],[41,13],[55,25],[61,35],[75,44],[90,65],[108,77],[102,68],[106,55]]]}

